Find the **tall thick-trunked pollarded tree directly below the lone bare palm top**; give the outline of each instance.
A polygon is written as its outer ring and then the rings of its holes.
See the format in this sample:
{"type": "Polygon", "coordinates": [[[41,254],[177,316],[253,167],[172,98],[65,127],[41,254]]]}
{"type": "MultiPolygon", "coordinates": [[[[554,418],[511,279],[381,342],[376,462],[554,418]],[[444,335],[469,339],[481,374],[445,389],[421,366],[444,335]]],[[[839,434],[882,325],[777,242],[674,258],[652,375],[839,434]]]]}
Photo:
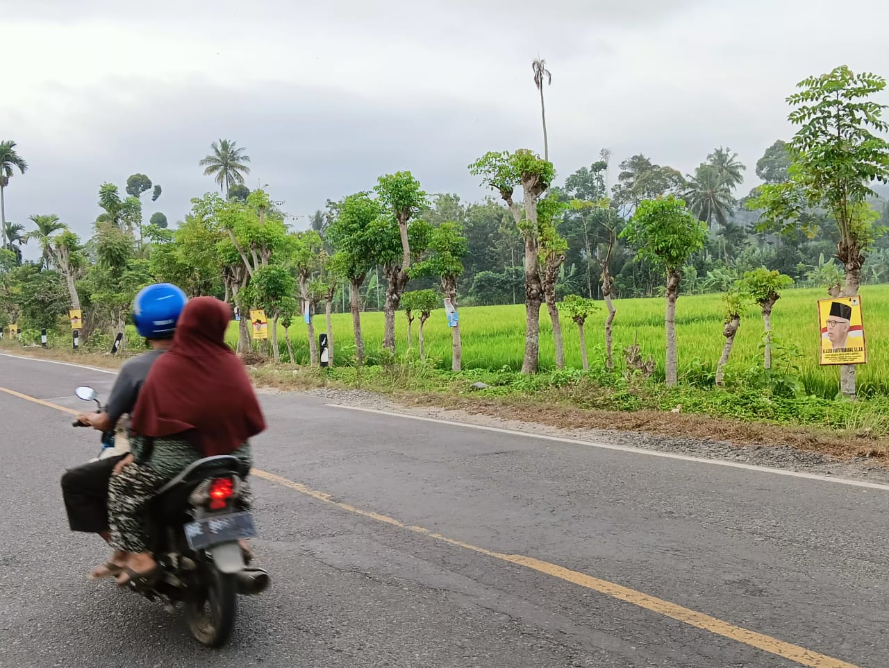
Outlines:
{"type": "Polygon", "coordinates": [[[535,373],[540,356],[543,302],[537,203],[555,178],[556,171],[552,163],[523,148],[514,154],[506,151],[486,153],[469,165],[469,173],[481,176],[486,186],[500,193],[525,239],[525,357],[522,373],[535,373]],[[512,198],[519,185],[524,193],[524,211],[512,198]]]}

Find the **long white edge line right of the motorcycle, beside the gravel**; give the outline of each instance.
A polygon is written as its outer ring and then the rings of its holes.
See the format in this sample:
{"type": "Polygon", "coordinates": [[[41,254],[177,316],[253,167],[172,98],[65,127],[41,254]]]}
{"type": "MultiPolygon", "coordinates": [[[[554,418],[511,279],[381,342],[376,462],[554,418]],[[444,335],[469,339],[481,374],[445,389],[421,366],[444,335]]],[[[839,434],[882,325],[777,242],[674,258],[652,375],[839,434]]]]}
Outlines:
{"type": "Polygon", "coordinates": [[[449,425],[465,427],[467,429],[478,429],[485,432],[505,433],[510,436],[524,436],[525,438],[540,439],[541,441],[556,441],[557,443],[570,443],[572,445],[585,445],[589,448],[599,448],[605,450],[617,450],[619,452],[632,452],[637,455],[648,455],[650,457],[663,457],[664,459],[678,459],[683,462],[695,462],[697,464],[709,464],[715,466],[728,466],[730,468],[741,468],[747,471],[756,471],[757,473],[773,473],[774,475],[784,475],[789,478],[804,478],[805,480],[835,482],[840,485],[850,485],[852,487],[863,487],[867,489],[880,489],[889,491],[889,485],[881,485],[877,482],[855,481],[847,478],[833,478],[829,475],[818,475],[817,473],[800,473],[797,471],[786,471],[780,468],[771,468],[769,466],[757,466],[753,464],[741,464],[740,462],[729,462],[723,459],[707,459],[705,457],[692,457],[690,455],[677,455],[672,452],[660,452],[658,450],[649,450],[644,448],[634,448],[630,445],[616,445],[613,443],[597,443],[594,441],[581,441],[579,439],[570,439],[563,436],[550,436],[547,434],[520,432],[515,429],[503,429],[496,426],[473,425],[469,422],[457,422],[455,420],[443,420],[440,418],[425,418],[419,415],[408,415],[407,413],[396,413],[390,410],[375,410],[358,408],[356,406],[342,406],[335,403],[324,404],[334,409],[357,410],[364,413],[374,413],[376,415],[385,415],[392,418],[407,418],[410,420],[421,420],[423,422],[434,422],[439,425],[449,425]]]}

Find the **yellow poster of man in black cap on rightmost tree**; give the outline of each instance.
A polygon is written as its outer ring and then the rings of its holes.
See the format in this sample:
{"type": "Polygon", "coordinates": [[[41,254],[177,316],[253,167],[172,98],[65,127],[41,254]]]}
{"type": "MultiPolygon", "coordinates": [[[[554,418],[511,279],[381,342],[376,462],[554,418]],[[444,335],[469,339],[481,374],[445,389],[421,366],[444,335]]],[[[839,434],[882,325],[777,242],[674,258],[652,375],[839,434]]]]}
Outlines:
{"type": "Polygon", "coordinates": [[[818,300],[821,365],[867,364],[861,297],[818,300]]]}

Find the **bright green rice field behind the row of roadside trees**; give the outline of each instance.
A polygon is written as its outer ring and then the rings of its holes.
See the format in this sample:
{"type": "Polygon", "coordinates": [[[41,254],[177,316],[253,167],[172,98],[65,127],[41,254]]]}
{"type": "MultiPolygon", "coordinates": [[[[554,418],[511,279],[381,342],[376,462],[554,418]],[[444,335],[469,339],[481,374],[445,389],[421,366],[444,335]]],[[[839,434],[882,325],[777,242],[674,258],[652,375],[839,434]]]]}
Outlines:
{"type": "MultiPolygon", "coordinates": [[[[772,322],[777,341],[784,346],[796,346],[795,359],[798,376],[807,394],[832,397],[838,391],[839,371],[835,367],[818,364],[819,323],[816,301],[826,295],[823,290],[787,290],[774,307],[772,322]]],[[[861,289],[865,319],[869,363],[859,368],[859,387],[862,392],[889,395],[889,285],[865,286],[861,289]]],[[[645,356],[653,355],[658,364],[656,373],[662,374],[664,357],[662,298],[615,300],[617,316],[614,320],[615,363],[622,365],[621,350],[638,336],[645,356]]],[[[483,370],[519,370],[525,346],[525,306],[469,306],[460,310],[463,342],[463,368],[483,370]]],[[[592,369],[605,365],[605,306],[589,317],[586,324],[587,350],[592,369]]],[[[334,362],[348,363],[355,348],[351,316],[334,314],[332,318],[334,362]]],[[[413,323],[413,346],[416,348],[418,322],[413,323]]],[[[383,314],[362,314],[362,328],[369,362],[380,351],[383,338],[383,314]]],[[[677,303],[677,346],[680,376],[707,374],[716,369],[725,339],[722,336],[722,297],[718,294],[680,296],[677,303]]],[[[279,326],[282,354],[286,356],[284,329],[279,326]]],[[[316,315],[316,334],[324,330],[324,315],[316,315]]],[[[581,349],[577,326],[563,318],[565,362],[569,367],[581,368],[581,349]]],[[[407,348],[407,321],[404,313],[396,314],[398,352],[407,348]]],[[[451,368],[451,331],[447,327],[444,308],[433,312],[424,330],[426,353],[436,366],[451,368]]],[[[750,306],[741,320],[741,330],[735,338],[729,371],[747,370],[761,363],[760,349],[763,322],[757,306],[750,306]]],[[[301,320],[293,323],[290,338],[297,362],[308,362],[306,325],[301,320]]],[[[228,330],[228,342],[234,346],[237,326],[228,330]]],[[[541,309],[541,369],[554,366],[554,346],[549,314],[541,309]]]]}

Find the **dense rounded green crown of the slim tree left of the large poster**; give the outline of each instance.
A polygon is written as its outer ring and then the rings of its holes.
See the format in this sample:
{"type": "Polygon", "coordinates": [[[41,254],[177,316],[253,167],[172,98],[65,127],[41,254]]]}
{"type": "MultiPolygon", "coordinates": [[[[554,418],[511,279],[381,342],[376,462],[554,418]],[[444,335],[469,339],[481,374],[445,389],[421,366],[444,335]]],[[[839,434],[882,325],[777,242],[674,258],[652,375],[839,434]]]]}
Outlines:
{"type": "Polygon", "coordinates": [[[621,232],[637,248],[637,258],[664,266],[677,274],[707,239],[707,227],[673,195],[645,200],[621,232]]]}

